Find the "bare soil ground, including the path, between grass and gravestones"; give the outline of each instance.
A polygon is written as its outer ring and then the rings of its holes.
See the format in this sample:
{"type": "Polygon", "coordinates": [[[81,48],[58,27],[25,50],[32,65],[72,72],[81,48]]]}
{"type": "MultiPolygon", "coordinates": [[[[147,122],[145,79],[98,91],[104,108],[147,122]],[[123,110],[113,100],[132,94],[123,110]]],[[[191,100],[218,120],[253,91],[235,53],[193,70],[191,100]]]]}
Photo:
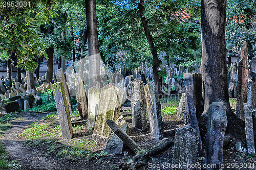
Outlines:
{"type": "MultiPolygon", "coordinates": [[[[125,119],[131,127],[129,135],[144,150],[150,150],[153,147],[156,147],[159,142],[156,142],[151,138],[150,130],[147,132],[140,132],[132,127],[130,113],[131,107],[129,105],[124,105],[121,108],[121,114],[126,115],[125,119]]],[[[122,155],[104,155],[92,158],[84,156],[75,159],[59,157],[57,156],[57,151],[67,147],[66,144],[70,142],[69,140],[61,140],[60,142],[57,142],[58,147],[54,148],[55,151],[49,153],[48,151],[51,143],[49,143],[49,145],[30,145],[29,142],[25,141],[25,138],[19,136],[19,134],[28,128],[31,123],[41,122],[41,118],[46,116],[47,113],[22,112],[17,114],[22,114],[23,118],[12,120],[12,128],[1,136],[1,142],[5,145],[9,154],[8,159],[17,160],[19,164],[17,169],[120,169],[124,162],[131,162],[134,157],[134,153],[126,147],[124,148],[122,155]]],[[[163,115],[163,121],[165,138],[174,140],[175,130],[184,126],[183,121],[177,120],[175,115],[163,115]]],[[[82,121],[76,124],[86,125],[86,123],[82,121]]],[[[75,134],[75,138],[81,140],[91,138],[91,136],[92,130],[89,129],[75,134]]],[[[247,156],[245,153],[236,152],[234,144],[235,143],[230,142],[230,144],[224,148],[223,157],[225,168],[223,169],[256,169],[255,156],[247,156]],[[229,165],[228,163],[230,163],[229,167],[227,167],[229,165]],[[245,167],[248,163],[254,163],[254,167],[245,167]],[[236,165],[240,165],[239,168],[234,167],[236,165]]],[[[92,148],[92,152],[100,154],[103,148],[104,146],[102,145],[96,145],[95,148],[92,148]]],[[[165,152],[152,158],[148,162],[148,165],[141,166],[138,169],[172,169],[167,168],[167,165],[169,166],[169,164],[172,163],[172,158],[173,147],[170,147],[165,152]],[[162,165],[162,167],[158,167],[157,164],[164,164],[165,166],[162,165]]],[[[204,162],[204,158],[199,157],[198,162],[202,164],[204,162]]]]}

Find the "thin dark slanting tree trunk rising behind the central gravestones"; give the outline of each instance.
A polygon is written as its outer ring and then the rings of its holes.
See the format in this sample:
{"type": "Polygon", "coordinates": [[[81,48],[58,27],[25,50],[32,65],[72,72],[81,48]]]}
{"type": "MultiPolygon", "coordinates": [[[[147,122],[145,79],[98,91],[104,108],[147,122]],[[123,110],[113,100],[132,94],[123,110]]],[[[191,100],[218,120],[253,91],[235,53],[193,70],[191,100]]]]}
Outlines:
{"type": "Polygon", "coordinates": [[[158,90],[160,90],[160,80],[158,75],[158,57],[157,57],[157,49],[154,45],[152,35],[150,34],[150,30],[148,29],[146,18],[144,17],[144,0],[140,0],[140,3],[138,5],[139,12],[140,12],[140,19],[142,21],[142,25],[144,28],[144,32],[146,35],[146,39],[148,44],[150,45],[150,50],[153,56],[153,74],[154,74],[154,82],[155,85],[158,87],[158,90]]]}

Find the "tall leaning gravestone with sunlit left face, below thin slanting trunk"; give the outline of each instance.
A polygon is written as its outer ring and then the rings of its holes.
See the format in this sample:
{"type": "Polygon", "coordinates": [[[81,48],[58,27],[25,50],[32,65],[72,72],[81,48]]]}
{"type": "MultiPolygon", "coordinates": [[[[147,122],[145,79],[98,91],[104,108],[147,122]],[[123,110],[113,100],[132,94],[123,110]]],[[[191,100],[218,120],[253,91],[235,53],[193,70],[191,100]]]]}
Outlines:
{"type": "Polygon", "coordinates": [[[161,115],[161,104],[157,95],[157,86],[147,83],[144,87],[147,113],[150,119],[150,130],[152,138],[156,140],[164,136],[163,120],[161,115]]]}

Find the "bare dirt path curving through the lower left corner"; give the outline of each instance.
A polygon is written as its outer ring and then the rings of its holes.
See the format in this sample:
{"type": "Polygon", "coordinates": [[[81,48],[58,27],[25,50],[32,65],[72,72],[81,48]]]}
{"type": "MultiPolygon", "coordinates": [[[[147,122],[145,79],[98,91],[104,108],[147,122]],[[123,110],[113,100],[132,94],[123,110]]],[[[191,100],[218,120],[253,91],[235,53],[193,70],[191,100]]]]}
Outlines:
{"type": "Polygon", "coordinates": [[[46,115],[46,113],[29,114],[22,119],[13,120],[11,122],[13,127],[3,134],[1,138],[1,142],[5,145],[10,158],[17,160],[22,165],[21,169],[62,169],[57,162],[48,160],[43,153],[26,147],[24,142],[18,138],[18,135],[30,124],[39,121],[46,115]]]}

